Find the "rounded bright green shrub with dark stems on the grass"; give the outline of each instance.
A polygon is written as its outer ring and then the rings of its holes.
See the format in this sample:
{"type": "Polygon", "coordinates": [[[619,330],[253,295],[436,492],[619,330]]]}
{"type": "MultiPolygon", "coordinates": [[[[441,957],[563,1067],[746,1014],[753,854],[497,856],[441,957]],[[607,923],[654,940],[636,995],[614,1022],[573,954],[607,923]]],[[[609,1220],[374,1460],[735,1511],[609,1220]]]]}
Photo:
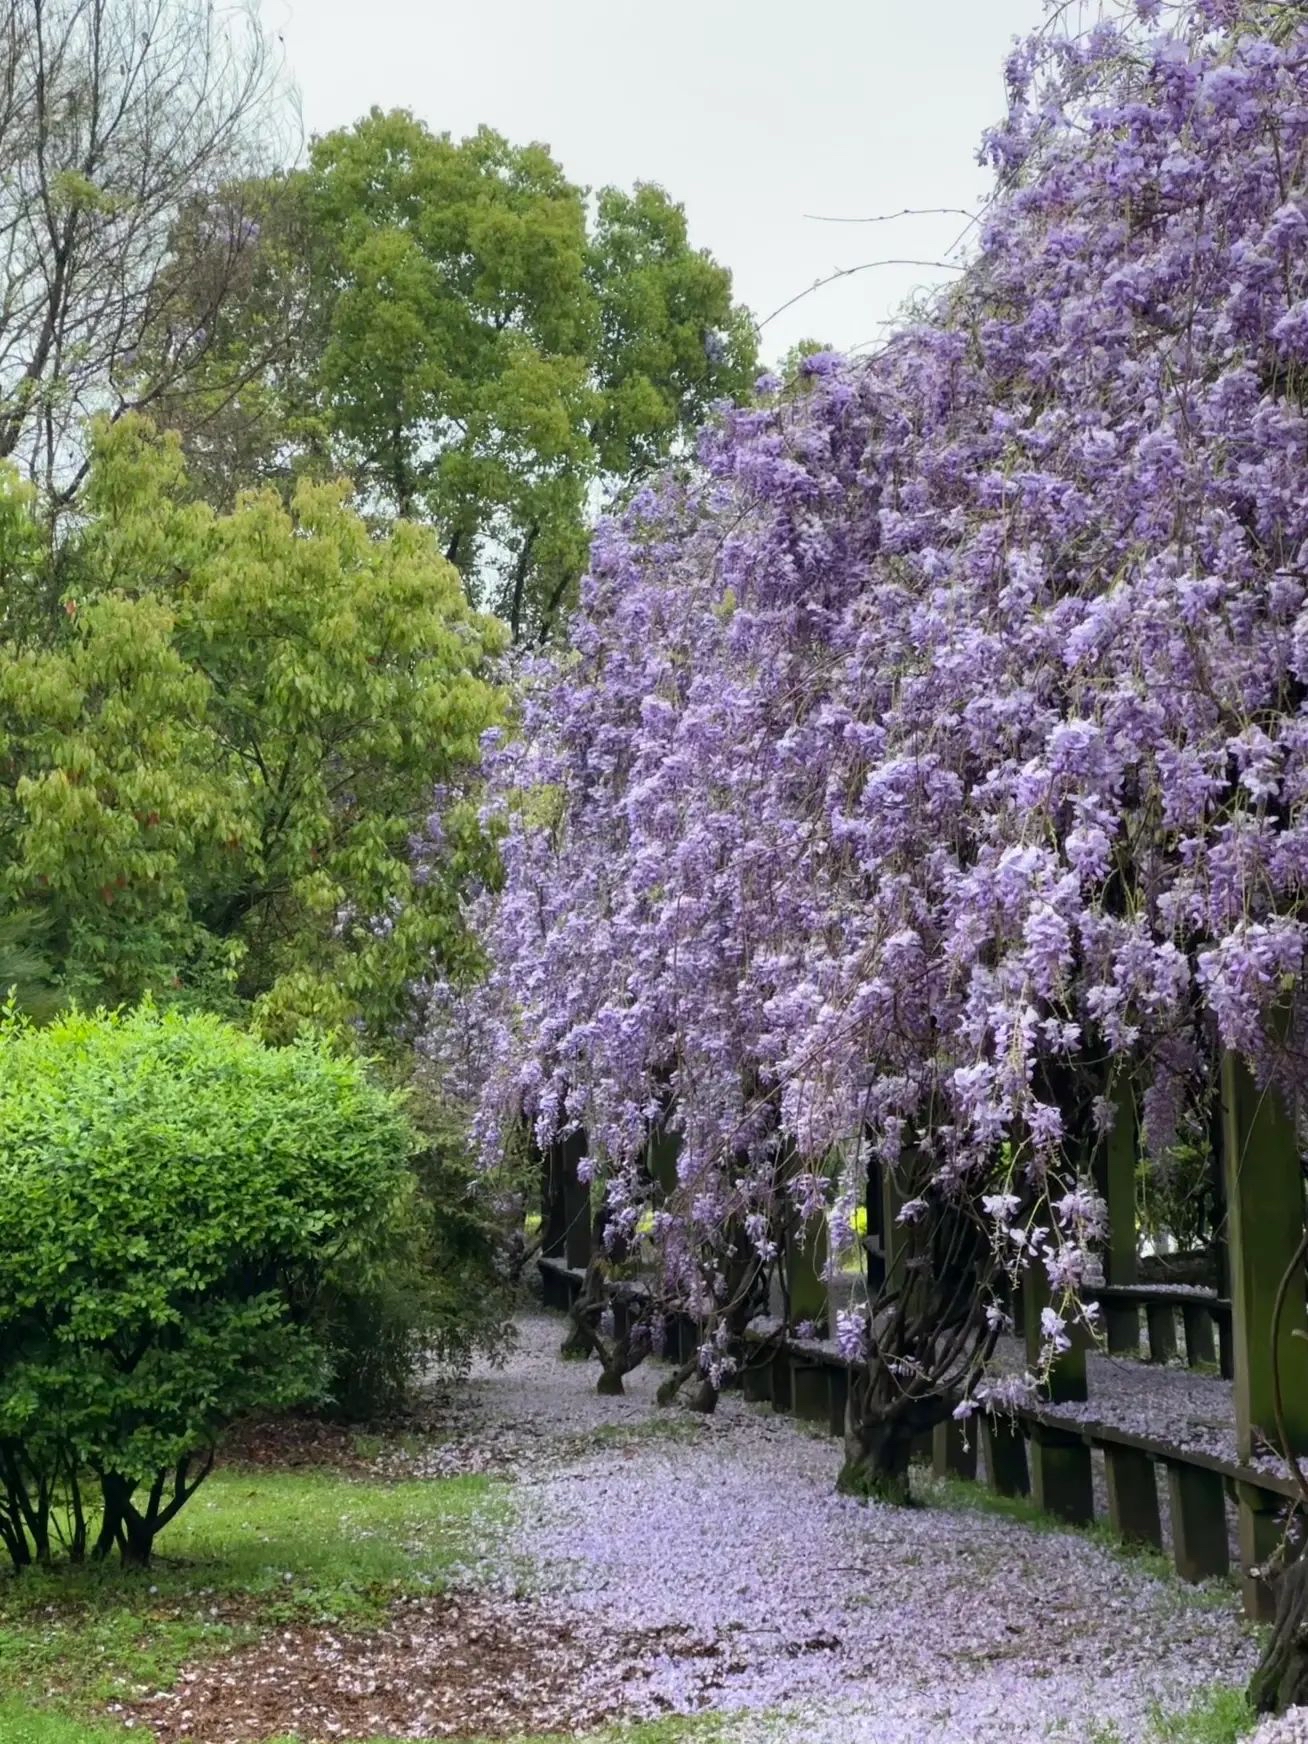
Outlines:
{"type": "Polygon", "coordinates": [[[326,1392],[317,1298],[403,1195],[412,1148],[399,1100],[321,1041],[269,1048],[150,1006],[0,1020],[0,1542],[16,1566],[59,1543],[148,1561],[234,1416],[326,1392]]]}

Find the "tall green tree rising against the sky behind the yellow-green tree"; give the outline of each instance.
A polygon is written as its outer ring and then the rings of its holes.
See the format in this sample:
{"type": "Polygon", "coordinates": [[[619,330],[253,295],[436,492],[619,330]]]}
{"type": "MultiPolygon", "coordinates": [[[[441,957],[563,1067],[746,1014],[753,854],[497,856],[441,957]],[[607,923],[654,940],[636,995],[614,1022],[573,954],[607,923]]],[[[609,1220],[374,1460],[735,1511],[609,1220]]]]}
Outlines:
{"type": "MultiPolygon", "coordinates": [[[[438,530],[514,638],[546,630],[596,504],[752,380],[731,276],[661,188],[591,204],[544,146],[485,127],[453,141],[373,110],[286,188],[251,305],[255,331],[277,296],[298,309],[300,356],[232,399],[227,445],[169,405],[188,455],[228,490],[344,466],[378,514],[438,530]]],[[[223,378],[251,364],[249,330],[228,328],[223,378]]]]}

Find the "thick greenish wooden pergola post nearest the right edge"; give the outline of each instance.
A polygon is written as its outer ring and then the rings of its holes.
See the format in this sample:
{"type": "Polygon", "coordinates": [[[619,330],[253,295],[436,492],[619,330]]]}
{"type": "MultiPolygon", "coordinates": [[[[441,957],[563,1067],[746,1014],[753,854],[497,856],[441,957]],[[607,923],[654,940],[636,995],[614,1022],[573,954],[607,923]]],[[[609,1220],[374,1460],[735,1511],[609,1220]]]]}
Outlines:
{"type": "MultiPolygon", "coordinates": [[[[1221,1093],[1236,1448],[1245,1463],[1264,1444],[1298,1458],[1308,1453],[1308,1301],[1303,1263],[1296,1264],[1305,1217],[1294,1111],[1231,1052],[1223,1055],[1221,1093]],[[1287,1275],[1273,1353],[1271,1322],[1287,1275]],[[1277,1373],[1289,1449],[1277,1430],[1277,1373]]],[[[1250,1570],[1278,1533],[1259,1496],[1240,1486],[1240,1561],[1254,1615],[1264,1613],[1266,1592],[1250,1570]]]]}

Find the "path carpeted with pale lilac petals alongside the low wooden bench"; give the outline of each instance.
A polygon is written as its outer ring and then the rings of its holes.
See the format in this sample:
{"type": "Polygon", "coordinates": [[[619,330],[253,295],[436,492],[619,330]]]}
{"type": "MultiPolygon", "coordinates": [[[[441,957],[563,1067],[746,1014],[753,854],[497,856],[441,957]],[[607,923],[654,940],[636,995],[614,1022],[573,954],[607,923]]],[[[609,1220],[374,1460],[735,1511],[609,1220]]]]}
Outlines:
{"type": "Polygon", "coordinates": [[[1252,1667],[1233,1594],[978,1510],[860,1507],[834,1493],[828,1437],[731,1395],[710,1420],[659,1413],[649,1366],[600,1399],[562,1331],[527,1317],[431,1461],[476,1449],[516,1474],[502,1577],[527,1557],[633,1718],[732,1711],[769,1744],[1092,1744],[1109,1725],[1137,1744],[1155,1704],[1252,1667]]]}

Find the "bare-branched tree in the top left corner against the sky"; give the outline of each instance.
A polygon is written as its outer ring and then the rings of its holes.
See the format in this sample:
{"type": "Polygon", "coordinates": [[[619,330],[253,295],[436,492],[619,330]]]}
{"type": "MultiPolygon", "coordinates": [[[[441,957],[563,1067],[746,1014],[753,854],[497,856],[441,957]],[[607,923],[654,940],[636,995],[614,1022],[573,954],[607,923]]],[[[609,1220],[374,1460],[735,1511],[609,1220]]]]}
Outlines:
{"type": "Polygon", "coordinates": [[[221,398],[215,321],[291,115],[253,14],[0,0],[0,457],[51,514],[84,480],[91,413],[221,398]]]}

